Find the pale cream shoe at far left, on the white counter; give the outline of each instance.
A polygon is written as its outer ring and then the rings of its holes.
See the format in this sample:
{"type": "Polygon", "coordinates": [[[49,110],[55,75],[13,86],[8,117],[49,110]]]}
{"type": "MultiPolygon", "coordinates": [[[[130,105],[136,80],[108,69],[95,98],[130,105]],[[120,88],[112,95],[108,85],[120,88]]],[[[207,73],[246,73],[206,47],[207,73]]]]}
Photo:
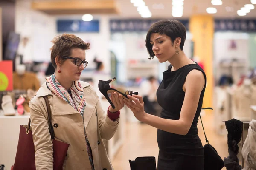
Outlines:
{"type": "Polygon", "coordinates": [[[16,114],[12,105],[12,97],[10,95],[3,96],[1,106],[5,116],[14,116],[16,114]]]}

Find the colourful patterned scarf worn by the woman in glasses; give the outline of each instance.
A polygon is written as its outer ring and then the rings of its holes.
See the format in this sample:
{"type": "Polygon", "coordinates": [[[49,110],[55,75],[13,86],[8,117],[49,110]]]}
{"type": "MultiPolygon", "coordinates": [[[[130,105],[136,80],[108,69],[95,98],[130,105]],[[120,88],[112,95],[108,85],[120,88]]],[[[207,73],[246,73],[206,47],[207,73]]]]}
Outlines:
{"type": "MultiPolygon", "coordinates": [[[[84,120],[84,109],[86,106],[85,103],[85,97],[84,97],[84,89],[81,87],[81,84],[79,81],[74,81],[73,85],[70,88],[72,96],[68,93],[68,91],[58,82],[58,80],[55,77],[55,74],[52,74],[50,77],[46,78],[46,85],[49,88],[49,90],[52,92],[52,94],[55,94],[65,102],[67,102],[69,105],[71,105],[76,111],[78,111],[84,120]]],[[[87,152],[91,164],[92,170],[94,170],[93,165],[93,154],[92,149],[90,147],[90,143],[87,137],[87,134],[85,133],[85,140],[86,140],[86,147],[87,152]]]]}

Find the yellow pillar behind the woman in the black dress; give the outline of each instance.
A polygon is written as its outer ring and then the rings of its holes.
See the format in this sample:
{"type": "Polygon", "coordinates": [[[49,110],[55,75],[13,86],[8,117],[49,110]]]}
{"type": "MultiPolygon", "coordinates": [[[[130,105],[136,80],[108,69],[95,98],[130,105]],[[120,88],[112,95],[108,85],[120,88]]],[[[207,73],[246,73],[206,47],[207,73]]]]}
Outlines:
{"type": "Polygon", "coordinates": [[[207,86],[204,93],[203,107],[213,107],[213,35],[214,18],[207,15],[195,15],[190,17],[189,31],[194,41],[194,56],[197,56],[204,64],[207,77],[207,86]]]}

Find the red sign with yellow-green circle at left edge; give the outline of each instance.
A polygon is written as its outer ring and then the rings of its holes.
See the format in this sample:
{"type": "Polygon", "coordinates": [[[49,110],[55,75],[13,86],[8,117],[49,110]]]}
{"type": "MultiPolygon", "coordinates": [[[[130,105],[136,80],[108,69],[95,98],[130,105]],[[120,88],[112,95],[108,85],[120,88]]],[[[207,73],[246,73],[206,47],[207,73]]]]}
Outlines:
{"type": "Polygon", "coordinates": [[[0,91],[12,90],[12,61],[0,61],[0,91]]]}

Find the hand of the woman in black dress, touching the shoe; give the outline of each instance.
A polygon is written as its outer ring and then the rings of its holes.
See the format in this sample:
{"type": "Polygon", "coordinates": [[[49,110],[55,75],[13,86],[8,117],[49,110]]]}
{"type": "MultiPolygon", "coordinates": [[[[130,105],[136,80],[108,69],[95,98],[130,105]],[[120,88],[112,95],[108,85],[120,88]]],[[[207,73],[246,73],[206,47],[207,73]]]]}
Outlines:
{"type": "Polygon", "coordinates": [[[135,95],[135,94],[133,94],[132,96],[131,95],[127,95],[127,96],[131,100],[131,102],[124,99],[125,105],[127,105],[127,107],[131,109],[136,119],[138,119],[141,122],[144,122],[145,117],[147,116],[147,113],[144,110],[144,102],[143,102],[142,96],[135,95]]]}

